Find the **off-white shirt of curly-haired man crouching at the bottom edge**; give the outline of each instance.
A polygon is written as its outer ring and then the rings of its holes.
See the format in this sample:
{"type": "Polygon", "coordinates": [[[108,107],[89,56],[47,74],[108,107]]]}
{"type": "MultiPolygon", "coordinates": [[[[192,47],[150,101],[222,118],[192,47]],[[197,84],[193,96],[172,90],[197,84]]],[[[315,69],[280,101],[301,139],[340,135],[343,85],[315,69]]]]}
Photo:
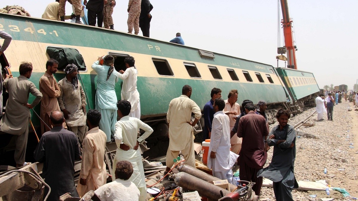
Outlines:
{"type": "Polygon", "coordinates": [[[140,192],[129,180],[116,179],[95,191],[101,201],[138,201],[140,192]]]}

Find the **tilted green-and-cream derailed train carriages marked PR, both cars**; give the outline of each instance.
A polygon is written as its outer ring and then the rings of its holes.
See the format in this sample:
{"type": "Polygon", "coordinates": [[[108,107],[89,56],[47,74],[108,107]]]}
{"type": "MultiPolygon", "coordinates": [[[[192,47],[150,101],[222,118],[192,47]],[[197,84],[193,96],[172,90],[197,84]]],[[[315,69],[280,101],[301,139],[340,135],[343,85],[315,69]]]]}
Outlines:
{"type": "MultiPolygon", "coordinates": [[[[55,57],[54,52],[62,52],[64,65],[76,63],[79,66],[79,82],[87,96],[87,109],[95,108],[96,73],[91,65],[97,57],[113,55],[117,71],[125,70],[125,57],[134,57],[138,70],[141,120],[154,129],[154,133],[147,138],[151,150],[145,152],[144,157],[165,155],[169,141],[166,137],[166,112],[170,100],[181,95],[185,84],[192,86],[191,99],[200,108],[210,99],[213,87],[222,89],[224,99],[229,90],[237,89],[239,104],[244,99],[254,103],[265,100],[270,122],[275,121],[277,108],[299,113],[303,107],[314,104],[315,93],[319,92],[314,75],[309,72],[274,68],[115,30],[9,14],[0,14],[0,29],[13,36],[9,48],[0,57],[0,63],[3,67],[10,66],[14,77],[19,75],[19,64],[29,61],[34,67],[30,81],[38,87],[39,79],[46,70],[45,63],[55,57]],[[69,48],[76,51],[66,54],[71,50],[69,48]]],[[[59,70],[54,76],[61,80],[65,75],[59,70]]],[[[118,100],[121,98],[121,85],[122,82],[116,84],[118,100]]],[[[33,99],[30,95],[29,101],[33,99]]],[[[34,109],[39,112],[39,108],[40,104],[34,109]]],[[[32,114],[31,119],[38,127],[38,117],[32,114]]],[[[202,131],[203,122],[199,121],[196,133],[202,131]]],[[[26,160],[32,158],[36,144],[29,136],[26,160]]],[[[112,146],[115,150],[115,144],[112,146]]],[[[2,149],[4,152],[11,148],[14,147],[8,145],[2,149]]]]}

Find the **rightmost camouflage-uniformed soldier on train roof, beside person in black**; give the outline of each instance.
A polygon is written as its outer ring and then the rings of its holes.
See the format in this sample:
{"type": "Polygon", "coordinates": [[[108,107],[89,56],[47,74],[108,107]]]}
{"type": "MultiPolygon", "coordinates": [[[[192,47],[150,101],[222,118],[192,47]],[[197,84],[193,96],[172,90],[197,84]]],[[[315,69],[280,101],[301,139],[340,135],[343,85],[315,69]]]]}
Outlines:
{"type": "Polygon", "coordinates": [[[139,15],[140,15],[140,8],[141,0],[129,0],[128,3],[128,33],[132,33],[134,27],[134,34],[138,35],[139,33],[139,15]]]}

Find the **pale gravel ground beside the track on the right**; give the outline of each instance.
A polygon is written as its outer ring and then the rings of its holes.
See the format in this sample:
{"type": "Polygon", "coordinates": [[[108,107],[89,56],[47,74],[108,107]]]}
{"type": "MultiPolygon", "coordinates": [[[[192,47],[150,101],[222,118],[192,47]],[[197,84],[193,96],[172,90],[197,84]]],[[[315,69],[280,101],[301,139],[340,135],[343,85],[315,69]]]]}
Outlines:
{"type": "MultiPolygon", "coordinates": [[[[296,124],[314,110],[314,108],[308,109],[291,118],[289,124],[296,124]]],[[[323,117],[326,119],[326,114],[323,117]]],[[[306,128],[301,126],[300,131],[314,134],[318,138],[296,138],[296,179],[306,181],[326,180],[332,187],[345,188],[350,196],[343,197],[338,191],[331,191],[331,195],[326,195],[324,191],[294,190],[292,191],[294,200],[315,201],[325,197],[344,201],[355,200],[354,198],[358,197],[358,112],[354,111],[353,103],[343,100],[342,103],[335,105],[333,122],[317,121],[315,114],[308,123],[314,123],[315,126],[306,128]],[[348,111],[349,107],[352,108],[350,112],[348,111]],[[324,174],[324,168],[327,168],[327,174],[324,174]],[[335,176],[329,177],[330,174],[335,176]],[[312,198],[309,195],[316,195],[317,197],[312,198]]],[[[270,129],[275,125],[277,123],[271,125],[270,129]]],[[[269,162],[271,158],[272,149],[268,154],[269,162]]],[[[274,200],[272,188],[262,188],[261,200],[268,200],[266,198],[274,200]]]]}

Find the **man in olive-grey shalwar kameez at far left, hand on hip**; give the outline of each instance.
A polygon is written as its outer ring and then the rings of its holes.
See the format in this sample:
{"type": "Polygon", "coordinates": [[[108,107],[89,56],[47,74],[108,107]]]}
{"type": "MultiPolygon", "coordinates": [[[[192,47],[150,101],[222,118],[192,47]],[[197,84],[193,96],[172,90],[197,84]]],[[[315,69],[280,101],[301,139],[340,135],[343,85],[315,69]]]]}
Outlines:
{"type": "Polygon", "coordinates": [[[9,92],[9,99],[6,103],[6,112],[0,121],[0,131],[15,135],[15,154],[16,167],[27,165],[25,162],[25,152],[27,138],[29,134],[29,108],[35,107],[41,100],[42,94],[35,87],[35,84],[28,79],[32,73],[32,64],[23,62],[19,67],[20,76],[10,78],[6,75],[4,87],[9,92]],[[36,98],[32,104],[27,103],[29,93],[36,98]]]}

